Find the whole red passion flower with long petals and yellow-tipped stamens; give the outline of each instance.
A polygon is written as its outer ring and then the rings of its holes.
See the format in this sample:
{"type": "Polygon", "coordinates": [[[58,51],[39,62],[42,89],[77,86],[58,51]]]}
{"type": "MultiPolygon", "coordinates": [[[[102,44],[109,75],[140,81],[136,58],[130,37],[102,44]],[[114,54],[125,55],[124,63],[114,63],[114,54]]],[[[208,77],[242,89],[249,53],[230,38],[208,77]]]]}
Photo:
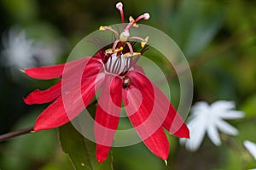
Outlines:
{"type": "Polygon", "coordinates": [[[102,162],[108,157],[119,124],[122,101],[143,143],[154,155],[166,160],[169,143],[164,128],[178,138],[189,138],[189,129],[166,95],[137,65],[137,60],[145,51],[148,37],[131,37],[129,31],[131,27],[137,27],[139,20],[148,20],[149,14],[142,14],[136,20],[130,17],[130,22],[125,24],[123,4],[117,3],[116,8],[121,14],[123,31],[119,33],[110,26],[100,27],[101,31],[112,31],[117,36],[111,48],[101,49],[95,56],[66,64],[26,69],[25,73],[29,77],[41,80],[61,78],[61,81],[49,89],[34,90],[24,101],[27,105],[52,102],[35,123],[34,131],[40,131],[70,122],[84,111],[101,88],[95,116],[95,124],[101,126],[94,127],[97,160],[102,162]],[[133,50],[134,43],[131,40],[141,42],[141,52],[133,50]],[[76,81],[78,75],[81,75],[80,82],[76,81]],[[63,81],[64,76],[66,81],[63,81]],[[63,88],[68,89],[67,93],[63,92],[63,88]],[[79,102],[79,98],[83,102],[79,102]]]}

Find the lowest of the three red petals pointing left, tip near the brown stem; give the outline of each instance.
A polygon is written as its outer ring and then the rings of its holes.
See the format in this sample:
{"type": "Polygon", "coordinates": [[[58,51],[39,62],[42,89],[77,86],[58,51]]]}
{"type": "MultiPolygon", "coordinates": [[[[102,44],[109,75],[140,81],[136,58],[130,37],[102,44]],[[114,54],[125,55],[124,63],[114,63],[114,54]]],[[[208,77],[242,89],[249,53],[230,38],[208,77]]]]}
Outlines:
{"type": "Polygon", "coordinates": [[[80,92],[77,87],[71,89],[68,94],[62,94],[62,96],[56,99],[54,103],[49,105],[38,116],[34,131],[60,127],[67,122],[70,122],[75,116],[78,116],[87,105],[89,105],[90,100],[93,99],[96,94],[96,88],[101,86],[102,80],[103,78],[98,79],[97,82],[95,82],[96,76],[90,77],[88,81],[82,84],[82,94],[80,95],[78,95],[80,92]],[[81,97],[84,99],[84,102],[80,101],[81,97]]]}

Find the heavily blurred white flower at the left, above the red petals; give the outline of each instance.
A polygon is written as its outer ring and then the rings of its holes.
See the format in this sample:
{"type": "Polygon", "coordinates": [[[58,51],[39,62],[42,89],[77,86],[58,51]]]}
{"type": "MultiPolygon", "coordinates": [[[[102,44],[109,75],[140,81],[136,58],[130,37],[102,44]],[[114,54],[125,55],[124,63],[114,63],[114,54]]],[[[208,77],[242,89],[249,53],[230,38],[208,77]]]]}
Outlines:
{"type": "Polygon", "coordinates": [[[44,42],[26,37],[25,31],[17,28],[3,34],[3,65],[18,69],[25,69],[37,65],[50,65],[62,53],[60,42],[44,42]]]}

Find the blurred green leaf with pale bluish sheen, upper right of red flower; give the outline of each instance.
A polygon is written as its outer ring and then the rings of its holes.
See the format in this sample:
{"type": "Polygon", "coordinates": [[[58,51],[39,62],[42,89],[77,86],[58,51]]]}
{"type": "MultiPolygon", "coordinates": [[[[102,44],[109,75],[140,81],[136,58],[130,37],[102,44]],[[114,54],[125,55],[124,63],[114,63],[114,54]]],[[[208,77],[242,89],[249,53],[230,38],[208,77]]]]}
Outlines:
{"type": "Polygon", "coordinates": [[[222,8],[219,8],[217,3],[200,0],[181,1],[169,16],[168,27],[172,38],[183,49],[183,53],[191,58],[200,54],[212,41],[222,25],[223,18],[222,8]]]}

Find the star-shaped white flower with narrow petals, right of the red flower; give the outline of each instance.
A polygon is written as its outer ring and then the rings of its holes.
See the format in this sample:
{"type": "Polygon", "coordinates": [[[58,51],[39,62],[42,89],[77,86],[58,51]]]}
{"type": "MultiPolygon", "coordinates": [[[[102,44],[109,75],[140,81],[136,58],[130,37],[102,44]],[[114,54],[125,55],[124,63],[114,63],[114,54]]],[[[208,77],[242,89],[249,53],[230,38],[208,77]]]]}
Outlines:
{"type": "Polygon", "coordinates": [[[189,118],[188,127],[190,130],[190,139],[180,139],[180,143],[186,146],[187,150],[195,151],[199,148],[206,133],[215,145],[220,145],[218,130],[237,135],[238,130],[232,127],[224,119],[237,119],[244,116],[242,111],[234,111],[235,104],[231,101],[219,100],[212,105],[207,102],[196,103],[189,118]]]}

